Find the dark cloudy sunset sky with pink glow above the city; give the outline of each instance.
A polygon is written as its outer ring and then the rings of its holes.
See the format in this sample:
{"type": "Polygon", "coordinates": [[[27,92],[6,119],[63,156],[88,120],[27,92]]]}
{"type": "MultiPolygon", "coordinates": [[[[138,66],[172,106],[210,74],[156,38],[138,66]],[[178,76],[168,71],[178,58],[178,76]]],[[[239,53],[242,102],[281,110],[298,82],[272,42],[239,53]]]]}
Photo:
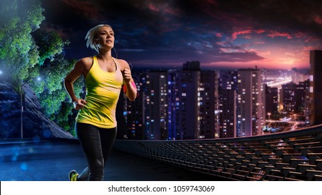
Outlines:
{"type": "MultiPolygon", "coordinates": [[[[309,68],[322,49],[322,1],[43,0],[43,29],[69,40],[66,56],[95,54],[86,32],[110,24],[118,59],[137,67],[309,68]]],[[[113,56],[116,56],[112,52],[113,56]]]]}

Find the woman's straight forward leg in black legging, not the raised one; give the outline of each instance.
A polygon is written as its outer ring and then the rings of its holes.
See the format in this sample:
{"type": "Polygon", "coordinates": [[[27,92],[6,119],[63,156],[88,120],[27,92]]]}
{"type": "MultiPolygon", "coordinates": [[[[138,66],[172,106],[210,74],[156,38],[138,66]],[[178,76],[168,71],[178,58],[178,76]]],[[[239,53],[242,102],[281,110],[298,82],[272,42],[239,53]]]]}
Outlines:
{"type": "Polygon", "coordinates": [[[83,153],[89,163],[89,180],[104,180],[104,157],[99,128],[77,123],[76,130],[83,153]]]}

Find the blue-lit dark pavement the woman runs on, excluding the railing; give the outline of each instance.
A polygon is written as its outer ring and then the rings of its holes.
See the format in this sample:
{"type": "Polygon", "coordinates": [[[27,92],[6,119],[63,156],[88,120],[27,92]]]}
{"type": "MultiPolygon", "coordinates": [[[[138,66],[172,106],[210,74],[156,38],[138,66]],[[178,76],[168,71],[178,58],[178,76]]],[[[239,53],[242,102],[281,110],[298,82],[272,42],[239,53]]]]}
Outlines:
{"type": "MultiPolygon", "coordinates": [[[[81,172],[85,167],[78,141],[0,141],[1,181],[67,181],[70,170],[81,172]]],[[[105,181],[194,180],[224,179],[116,150],[112,150],[105,166],[105,181]]]]}

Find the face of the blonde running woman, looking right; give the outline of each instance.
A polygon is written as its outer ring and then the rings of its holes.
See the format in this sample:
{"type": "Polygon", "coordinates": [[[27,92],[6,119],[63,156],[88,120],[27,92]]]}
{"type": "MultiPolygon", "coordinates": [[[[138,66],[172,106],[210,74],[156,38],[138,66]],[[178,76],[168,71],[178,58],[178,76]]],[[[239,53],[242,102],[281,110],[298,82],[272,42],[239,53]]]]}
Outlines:
{"type": "Polygon", "coordinates": [[[109,26],[102,26],[98,29],[98,40],[96,40],[98,47],[114,47],[114,31],[109,26]]]}

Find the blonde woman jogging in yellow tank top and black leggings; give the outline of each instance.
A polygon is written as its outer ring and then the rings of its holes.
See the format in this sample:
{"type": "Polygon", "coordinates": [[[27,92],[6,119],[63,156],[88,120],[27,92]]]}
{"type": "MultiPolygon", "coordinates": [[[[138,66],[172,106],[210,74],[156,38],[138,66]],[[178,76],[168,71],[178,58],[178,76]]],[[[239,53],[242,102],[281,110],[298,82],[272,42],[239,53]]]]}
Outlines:
{"type": "Polygon", "coordinates": [[[72,170],[70,180],[104,180],[104,166],[116,137],[116,103],[122,85],[129,100],[134,101],[137,88],[130,67],[124,60],[112,57],[114,31],[107,24],[90,29],[86,35],[86,46],[95,49],[96,56],[79,59],[64,80],[75,109],[76,132],[89,167],[81,174],[72,170]],[[84,76],[85,100],[77,98],[73,82],[84,76]]]}

